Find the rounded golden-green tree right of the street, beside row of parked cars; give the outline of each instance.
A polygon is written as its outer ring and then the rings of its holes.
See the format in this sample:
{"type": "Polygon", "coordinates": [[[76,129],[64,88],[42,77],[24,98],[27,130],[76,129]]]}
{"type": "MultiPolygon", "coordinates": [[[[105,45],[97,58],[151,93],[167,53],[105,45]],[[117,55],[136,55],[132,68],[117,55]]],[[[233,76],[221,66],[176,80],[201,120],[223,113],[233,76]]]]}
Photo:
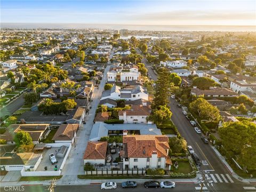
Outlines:
{"type": "Polygon", "coordinates": [[[201,119],[218,122],[221,119],[219,109],[207,100],[198,98],[189,104],[192,113],[198,115],[201,119]]]}

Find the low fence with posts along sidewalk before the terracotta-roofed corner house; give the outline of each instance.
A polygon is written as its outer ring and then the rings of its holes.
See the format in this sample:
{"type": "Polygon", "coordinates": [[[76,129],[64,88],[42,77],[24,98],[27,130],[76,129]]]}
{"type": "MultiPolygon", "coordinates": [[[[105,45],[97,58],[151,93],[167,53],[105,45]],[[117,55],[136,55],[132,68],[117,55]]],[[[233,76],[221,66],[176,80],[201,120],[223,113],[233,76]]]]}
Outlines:
{"type": "Polygon", "coordinates": [[[131,170],[129,170],[129,171],[127,171],[127,170],[118,170],[118,171],[111,171],[111,170],[109,170],[109,171],[101,171],[101,170],[98,170],[98,171],[85,171],[85,174],[87,174],[87,175],[95,175],[95,174],[97,174],[97,175],[121,175],[121,174],[134,174],[134,175],[136,175],[136,174],[144,174],[144,173],[146,173],[146,171],[145,170],[133,170],[133,171],[131,171],[131,170]]]}

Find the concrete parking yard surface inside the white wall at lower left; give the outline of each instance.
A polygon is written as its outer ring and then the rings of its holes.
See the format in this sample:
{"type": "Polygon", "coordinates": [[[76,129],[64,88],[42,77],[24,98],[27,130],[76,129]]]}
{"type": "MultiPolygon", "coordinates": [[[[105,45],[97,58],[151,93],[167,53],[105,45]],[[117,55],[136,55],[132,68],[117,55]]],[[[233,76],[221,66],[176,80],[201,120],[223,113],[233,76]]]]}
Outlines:
{"type": "Polygon", "coordinates": [[[63,158],[59,158],[56,156],[56,151],[58,151],[59,147],[52,147],[51,149],[45,149],[43,151],[43,159],[41,161],[41,163],[39,164],[39,166],[37,167],[36,171],[45,171],[44,167],[47,166],[47,171],[54,171],[54,167],[55,165],[57,165],[57,169],[59,171],[60,166],[63,162],[63,158]],[[58,163],[52,165],[50,159],[49,159],[49,155],[53,153],[58,161],[58,163]]]}

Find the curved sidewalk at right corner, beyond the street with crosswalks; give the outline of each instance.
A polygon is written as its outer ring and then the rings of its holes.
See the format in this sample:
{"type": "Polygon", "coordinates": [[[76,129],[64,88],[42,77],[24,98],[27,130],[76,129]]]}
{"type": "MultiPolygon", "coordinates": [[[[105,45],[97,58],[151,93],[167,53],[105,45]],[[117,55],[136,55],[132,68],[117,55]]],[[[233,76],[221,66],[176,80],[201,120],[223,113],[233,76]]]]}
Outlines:
{"type": "Polygon", "coordinates": [[[229,164],[227,163],[225,157],[223,157],[219,151],[217,149],[215,149],[215,147],[211,146],[213,151],[215,152],[215,154],[219,157],[220,161],[227,167],[228,171],[230,172],[230,174],[237,179],[238,181],[244,182],[244,183],[256,183],[256,179],[245,179],[242,177],[239,177],[239,175],[237,175],[234,170],[229,166],[229,164]]]}

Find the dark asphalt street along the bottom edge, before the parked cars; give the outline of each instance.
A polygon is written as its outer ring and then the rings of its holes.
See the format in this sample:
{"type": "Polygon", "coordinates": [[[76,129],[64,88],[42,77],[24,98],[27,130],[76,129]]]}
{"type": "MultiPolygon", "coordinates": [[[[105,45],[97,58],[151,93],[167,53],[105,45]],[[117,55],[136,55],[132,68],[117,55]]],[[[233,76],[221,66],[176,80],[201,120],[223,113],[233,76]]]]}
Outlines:
{"type": "MultiPolygon", "coordinates": [[[[19,189],[16,190],[10,190],[10,188],[5,187],[5,188],[0,188],[1,191],[25,191],[25,192],[43,192],[47,191],[47,186],[24,186],[24,190],[22,190],[22,186],[20,186],[19,189]]],[[[229,184],[229,185],[213,185],[211,187],[204,187],[203,191],[211,191],[211,192],[253,192],[255,191],[254,186],[250,185],[243,185],[243,184],[229,184]]],[[[54,188],[55,192],[62,192],[62,191],[70,191],[70,192],[97,192],[97,191],[102,191],[100,189],[100,185],[85,185],[85,186],[58,186],[54,188]]],[[[162,189],[162,188],[144,188],[143,185],[139,184],[137,188],[134,189],[122,189],[120,187],[120,184],[117,185],[117,188],[115,190],[108,190],[108,191],[134,191],[134,192],[148,192],[148,191],[181,191],[181,192],[191,192],[191,191],[200,191],[200,186],[199,185],[194,185],[194,184],[177,184],[175,188],[173,189],[162,189]]]]}

